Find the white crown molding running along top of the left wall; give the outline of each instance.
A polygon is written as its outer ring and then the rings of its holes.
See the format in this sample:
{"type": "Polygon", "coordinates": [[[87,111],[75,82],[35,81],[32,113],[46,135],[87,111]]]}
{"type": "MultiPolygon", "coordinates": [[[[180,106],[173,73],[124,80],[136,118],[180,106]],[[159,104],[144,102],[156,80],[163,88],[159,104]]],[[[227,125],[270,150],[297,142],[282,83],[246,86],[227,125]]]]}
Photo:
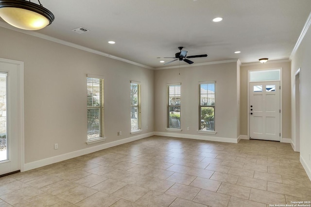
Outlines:
{"type": "Polygon", "coordinates": [[[7,24],[5,22],[2,22],[2,21],[0,21],[0,27],[6,28],[6,29],[9,29],[9,30],[14,30],[16,32],[21,32],[21,33],[24,33],[24,34],[32,35],[32,36],[35,36],[35,37],[38,37],[38,38],[41,38],[41,39],[49,40],[51,42],[55,42],[55,43],[59,43],[59,44],[62,44],[62,45],[66,45],[66,46],[69,46],[71,48],[81,49],[81,50],[84,50],[84,51],[87,51],[87,52],[90,52],[90,53],[101,55],[101,56],[104,56],[104,57],[107,57],[107,58],[112,58],[112,59],[115,59],[115,60],[118,60],[118,61],[122,61],[122,62],[125,62],[125,63],[134,64],[134,65],[137,65],[137,66],[140,66],[140,67],[144,67],[144,68],[147,68],[147,69],[154,69],[153,67],[150,67],[148,65],[139,64],[139,63],[136,63],[136,62],[133,62],[133,61],[129,61],[129,60],[126,60],[126,59],[123,59],[123,58],[120,58],[120,57],[117,57],[117,56],[114,56],[114,55],[110,55],[108,53],[104,53],[104,52],[96,50],[96,49],[87,48],[87,47],[84,47],[84,46],[81,46],[81,45],[77,45],[77,44],[74,44],[74,43],[71,43],[71,42],[67,42],[67,41],[64,41],[64,40],[61,40],[61,39],[57,39],[57,38],[51,37],[51,36],[46,35],[46,34],[41,34],[39,32],[28,31],[28,30],[21,30],[21,29],[13,27],[13,26],[11,26],[11,25],[9,25],[9,24],[7,24]]]}

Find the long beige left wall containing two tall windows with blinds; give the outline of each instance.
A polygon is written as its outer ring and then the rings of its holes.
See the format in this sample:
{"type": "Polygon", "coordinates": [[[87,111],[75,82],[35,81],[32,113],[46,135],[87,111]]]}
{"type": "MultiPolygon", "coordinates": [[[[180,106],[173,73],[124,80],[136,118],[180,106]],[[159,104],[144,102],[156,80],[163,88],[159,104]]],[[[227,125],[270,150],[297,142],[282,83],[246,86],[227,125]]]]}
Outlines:
{"type": "Polygon", "coordinates": [[[103,144],[86,144],[86,74],[105,78],[104,143],[135,136],[130,80],[141,82],[140,134],[154,131],[153,70],[5,28],[0,37],[0,57],[24,62],[25,163],[103,144]]]}

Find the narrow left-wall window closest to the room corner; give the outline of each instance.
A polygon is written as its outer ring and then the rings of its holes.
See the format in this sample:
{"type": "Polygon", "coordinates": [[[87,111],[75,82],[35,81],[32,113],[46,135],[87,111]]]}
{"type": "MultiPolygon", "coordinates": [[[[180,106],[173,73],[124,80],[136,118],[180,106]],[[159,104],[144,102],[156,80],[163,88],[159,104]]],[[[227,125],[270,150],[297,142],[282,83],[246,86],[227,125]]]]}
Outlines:
{"type": "Polygon", "coordinates": [[[140,82],[131,81],[131,132],[141,131],[140,82]]]}

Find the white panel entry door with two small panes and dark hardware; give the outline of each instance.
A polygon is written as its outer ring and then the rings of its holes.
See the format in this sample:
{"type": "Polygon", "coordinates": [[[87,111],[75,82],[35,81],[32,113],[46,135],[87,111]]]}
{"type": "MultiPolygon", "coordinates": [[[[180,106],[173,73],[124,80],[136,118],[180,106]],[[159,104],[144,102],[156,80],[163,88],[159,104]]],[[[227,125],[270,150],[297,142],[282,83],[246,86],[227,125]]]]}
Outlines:
{"type": "Polygon", "coordinates": [[[280,141],[279,81],[249,83],[250,139],[280,141]]]}

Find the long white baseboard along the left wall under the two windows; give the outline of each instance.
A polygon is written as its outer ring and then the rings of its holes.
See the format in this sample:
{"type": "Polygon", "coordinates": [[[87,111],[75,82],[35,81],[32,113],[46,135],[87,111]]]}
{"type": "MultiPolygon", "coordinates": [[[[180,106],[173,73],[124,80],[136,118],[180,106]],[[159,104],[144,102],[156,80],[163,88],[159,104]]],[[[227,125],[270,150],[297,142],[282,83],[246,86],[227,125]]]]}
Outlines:
{"type": "Polygon", "coordinates": [[[133,141],[140,140],[140,139],[150,137],[153,135],[155,135],[154,132],[150,132],[150,133],[146,133],[146,134],[140,134],[138,136],[125,138],[125,139],[110,142],[110,143],[104,143],[104,144],[96,145],[93,147],[88,147],[86,149],[81,149],[81,150],[69,152],[69,153],[66,153],[63,155],[58,155],[58,156],[54,156],[54,157],[47,158],[47,159],[40,159],[40,160],[37,160],[34,162],[25,163],[23,171],[28,171],[28,170],[32,170],[32,169],[35,169],[38,167],[43,167],[45,165],[53,164],[53,163],[60,162],[60,161],[66,160],[66,159],[79,157],[79,156],[86,155],[86,154],[89,154],[92,152],[96,152],[96,151],[99,151],[102,149],[106,149],[106,148],[117,146],[117,145],[124,144],[124,143],[133,142],[133,141]]]}

